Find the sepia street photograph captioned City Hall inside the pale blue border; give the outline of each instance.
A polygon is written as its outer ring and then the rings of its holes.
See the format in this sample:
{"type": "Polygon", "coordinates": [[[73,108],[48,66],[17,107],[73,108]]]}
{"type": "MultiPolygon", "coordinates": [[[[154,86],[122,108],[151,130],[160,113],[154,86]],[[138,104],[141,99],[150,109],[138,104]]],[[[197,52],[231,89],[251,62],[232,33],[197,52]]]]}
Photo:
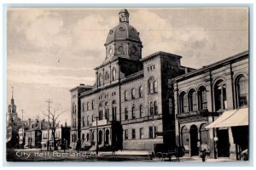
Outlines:
{"type": "Polygon", "coordinates": [[[250,161],[249,12],[7,8],[6,161],[250,161]]]}

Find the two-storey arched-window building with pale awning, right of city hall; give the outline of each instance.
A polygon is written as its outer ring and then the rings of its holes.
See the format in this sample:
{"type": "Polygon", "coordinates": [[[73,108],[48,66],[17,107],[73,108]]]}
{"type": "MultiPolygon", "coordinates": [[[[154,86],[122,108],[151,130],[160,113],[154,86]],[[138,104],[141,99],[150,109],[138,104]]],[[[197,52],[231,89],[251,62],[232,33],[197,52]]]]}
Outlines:
{"type": "Polygon", "coordinates": [[[172,79],[176,142],[189,156],[240,159],[248,149],[248,52],[172,79]]]}

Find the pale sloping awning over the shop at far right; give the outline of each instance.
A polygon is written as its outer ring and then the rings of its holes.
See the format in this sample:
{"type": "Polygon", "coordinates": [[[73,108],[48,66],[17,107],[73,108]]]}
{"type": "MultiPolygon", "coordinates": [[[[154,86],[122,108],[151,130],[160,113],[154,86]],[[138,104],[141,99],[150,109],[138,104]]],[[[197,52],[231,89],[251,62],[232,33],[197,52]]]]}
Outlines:
{"type": "Polygon", "coordinates": [[[215,122],[206,128],[248,126],[248,108],[224,111],[215,122]]]}

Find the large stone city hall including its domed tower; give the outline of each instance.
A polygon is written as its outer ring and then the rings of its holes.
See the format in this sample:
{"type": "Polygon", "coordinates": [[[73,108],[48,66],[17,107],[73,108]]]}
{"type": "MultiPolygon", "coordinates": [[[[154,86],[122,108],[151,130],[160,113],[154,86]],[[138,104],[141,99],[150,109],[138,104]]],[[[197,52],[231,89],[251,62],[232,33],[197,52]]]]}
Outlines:
{"type": "Polygon", "coordinates": [[[127,10],[120,11],[119,17],[124,16],[108,33],[106,59],[95,69],[95,86],[81,84],[70,90],[73,148],[77,139],[82,147],[97,143],[124,150],[175,145],[170,80],[193,69],[180,65],[181,56],[165,52],[142,59],[139,34],[129,25],[127,10]]]}

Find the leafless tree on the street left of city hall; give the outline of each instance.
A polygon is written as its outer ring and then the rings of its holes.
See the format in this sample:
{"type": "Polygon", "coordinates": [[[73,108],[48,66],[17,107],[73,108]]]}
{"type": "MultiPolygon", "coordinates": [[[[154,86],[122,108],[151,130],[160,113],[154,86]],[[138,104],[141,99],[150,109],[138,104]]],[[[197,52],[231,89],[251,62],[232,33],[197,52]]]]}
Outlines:
{"type": "MultiPolygon", "coordinates": [[[[48,110],[49,111],[49,110],[48,110]]],[[[43,111],[43,115],[47,116],[49,118],[49,128],[51,129],[52,137],[53,137],[53,142],[54,142],[54,150],[57,150],[56,146],[56,139],[55,139],[55,130],[56,127],[59,127],[60,121],[58,121],[59,116],[61,116],[62,113],[66,111],[61,111],[58,113],[58,109],[54,109],[54,111],[49,111],[49,115],[45,114],[43,111]]]]}

